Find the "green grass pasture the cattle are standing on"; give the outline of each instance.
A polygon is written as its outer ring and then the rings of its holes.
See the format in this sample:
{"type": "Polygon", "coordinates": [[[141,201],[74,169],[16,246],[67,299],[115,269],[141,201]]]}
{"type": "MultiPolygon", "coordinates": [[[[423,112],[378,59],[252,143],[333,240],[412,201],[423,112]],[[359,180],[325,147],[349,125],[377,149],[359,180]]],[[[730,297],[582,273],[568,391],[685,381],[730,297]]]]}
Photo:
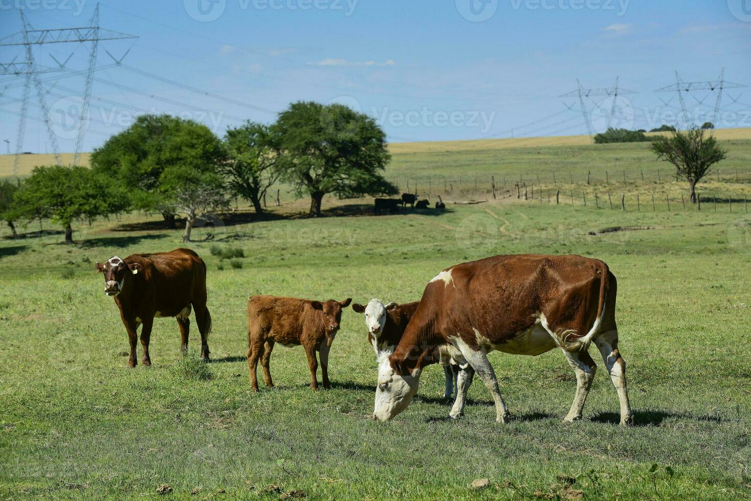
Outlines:
{"type": "MultiPolygon", "coordinates": [[[[751,141],[738,141],[731,154],[751,177],[751,141]]],[[[615,157],[641,154],[620,145],[566,148],[544,153],[599,165],[597,178],[615,157]]],[[[520,168],[538,162],[534,148],[506,153],[520,168]]],[[[478,151],[395,151],[391,172],[406,175],[423,162],[454,172],[490,165],[478,151]]],[[[304,200],[285,203],[273,220],[236,214],[212,239],[191,245],[209,268],[213,360],[200,367],[210,380],[193,379],[204,373],[182,362],[171,319],[155,322],[152,367],[125,368],[125,330],[93,271],[114,254],[179,247],[179,230],[130,214],[77,226],[74,245],[31,226],[28,238],[2,239],[0,499],[143,499],[164,484],[172,489],[164,496],[175,499],[301,491],[311,499],[751,498],[749,215],[505,198],[449,203],[443,214],[370,217],[366,204],[326,199],[329,217],[316,220],[296,217],[304,200]],[[211,245],[242,248],[242,268],[212,256],[211,245]],[[564,425],[575,377],[557,352],[490,356],[515,416],[509,425],[495,423],[479,381],[466,418],[446,419],[438,367],[427,370],[403,414],[373,422],[375,360],[351,309],[331,351],[332,389],[311,392],[303,350],[279,347],[271,360],[278,389],[249,391],[248,296],[414,301],[440,269],[519,252],[599,257],[617,276],[634,427],[617,425],[602,362],[584,419],[564,425]],[[473,490],[475,478],[490,485],[473,490]]],[[[195,231],[196,239],[207,236],[195,231]]]]}

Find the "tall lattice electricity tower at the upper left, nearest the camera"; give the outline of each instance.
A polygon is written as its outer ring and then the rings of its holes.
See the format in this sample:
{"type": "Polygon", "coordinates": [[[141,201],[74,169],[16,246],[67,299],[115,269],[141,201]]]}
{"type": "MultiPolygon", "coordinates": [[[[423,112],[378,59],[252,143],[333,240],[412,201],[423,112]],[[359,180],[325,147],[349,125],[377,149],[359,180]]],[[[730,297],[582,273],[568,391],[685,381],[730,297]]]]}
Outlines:
{"type": "MultiPolygon", "coordinates": [[[[91,98],[91,89],[93,74],[96,64],[96,53],[98,48],[98,42],[101,40],[122,40],[125,38],[137,38],[132,34],[120,33],[119,31],[111,31],[108,29],[99,27],[99,5],[97,4],[92,16],[89,26],[83,28],[53,28],[53,29],[34,29],[23,15],[23,10],[18,10],[21,17],[21,24],[23,31],[11,34],[8,37],[0,39],[0,46],[23,46],[26,52],[25,62],[15,62],[15,59],[10,63],[0,63],[0,75],[14,74],[17,76],[23,75],[25,77],[23,86],[23,100],[21,101],[21,113],[18,121],[18,135],[16,137],[16,158],[14,160],[14,175],[18,174],[19,155],[23,148],[23,136],[26,131],[26,115],[29,110],[29,95],[31,92],[32,83],[34,84],[37,99],[39,101],[39,107],[41,107],[42,118],[44,124],[47,127],[47,135],[50,137],[50,145],[52,146],[53,154],[55,154],[56,163],[62,163],[60,157],[60,148],[57,144],[57,137],[50,121],[50,110],[47,107],[47,101],[44,98],[44,88],[42,87],[40,74],[47,73],[48,71],[60,71],[65,67],[65,62],[60,63],[55,59],[59,68],[44,68],[40,67],[34,58],[34,46],[41,46],[46,43],[83,43],[91,42],[91,50],[89,51],[89,69],[86,71],[86,83],[83,91],[83,104],[80,107],[79,114],[79,129],[76,139],[76,149],[74,153],[73,164],[76,165],[80,158],[80,149],[83,145],[83,133],[86,132],[84,127],[86,115],[89,113],[89,101],[91,98]]],[[[54,58],[53,58],[54,59],[54,58]]]]}

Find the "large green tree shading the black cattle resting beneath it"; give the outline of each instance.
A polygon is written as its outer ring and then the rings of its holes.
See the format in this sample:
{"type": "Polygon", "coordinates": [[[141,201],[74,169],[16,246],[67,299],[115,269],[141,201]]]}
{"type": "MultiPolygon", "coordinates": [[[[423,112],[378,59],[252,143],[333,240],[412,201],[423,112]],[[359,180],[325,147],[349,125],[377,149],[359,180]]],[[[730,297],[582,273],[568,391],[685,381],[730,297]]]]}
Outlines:
{"type": "Polygon", "coordinates": [[[271,127],[283,151],[282,178],[310,196],[310,214],[321,215],[327,193],[395,194],[383,178],[391,156],[375,120],[341,104],[297,102],[271,127]]]}

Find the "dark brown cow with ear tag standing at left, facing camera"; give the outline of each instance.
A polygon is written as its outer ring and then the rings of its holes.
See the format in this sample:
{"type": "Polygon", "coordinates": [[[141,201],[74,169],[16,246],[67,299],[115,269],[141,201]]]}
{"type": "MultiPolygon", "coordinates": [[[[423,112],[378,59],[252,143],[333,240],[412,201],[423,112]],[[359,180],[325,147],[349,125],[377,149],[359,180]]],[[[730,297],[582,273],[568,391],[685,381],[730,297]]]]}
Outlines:
{"type": "Polygon", "coordinates": [[[154,317],[175,317],[182,335],[182,353],[188,350],[191,307],[201,332],[201,357],[209,359],[207,338],[211,332],[211,314],[206,308],[206,265],[190,249],[175,249],[155,254],[131,254],[125,260],[110,257],[96,263],[104,274],[104,293],[115,299],[128,332],[131,357],[128,367],[136,366],[138,326],[141,329],[143,365],[151,365],[149,338],[154,317]]]}

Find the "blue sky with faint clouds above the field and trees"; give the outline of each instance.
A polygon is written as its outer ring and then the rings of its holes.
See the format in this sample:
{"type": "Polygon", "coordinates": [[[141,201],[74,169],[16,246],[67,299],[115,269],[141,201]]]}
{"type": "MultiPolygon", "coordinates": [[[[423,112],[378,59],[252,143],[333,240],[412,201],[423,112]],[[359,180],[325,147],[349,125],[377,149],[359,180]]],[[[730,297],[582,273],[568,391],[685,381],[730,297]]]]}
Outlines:
{"type": "MultiPolygon", "coordinates": [[[[35,29],[75,28],[91,26],[96,5],[0,0],[0,63],[26,61],[24,46],[2,45],[23,29],[20,12],[35,29]]],[[[391,142],[586,134],[587,121],[593,133],[650,129],[680,115],[677,92],[655,92],[676,71],[683,83],[716,82],[724,68],[725,82],[751,85],[751,0],[98,5],[100,34],[137,38],[98,42],[83,119],[92,43],[35,45],[47,113],[32,78],[21,151],[52,152],[53,142],[74,151],[81,127],[92,151],[142,113],[192,118],[223,136],[246,120],[271,123],[294,101],[346,104],[391,142]]],[[[2,153],[17,148],[24,82],[0,75],[2,153]]],[[[716,118],[716,90],[681,94],[683,124],[751,126],[749,89],[723,89],[716,118]]]]}

